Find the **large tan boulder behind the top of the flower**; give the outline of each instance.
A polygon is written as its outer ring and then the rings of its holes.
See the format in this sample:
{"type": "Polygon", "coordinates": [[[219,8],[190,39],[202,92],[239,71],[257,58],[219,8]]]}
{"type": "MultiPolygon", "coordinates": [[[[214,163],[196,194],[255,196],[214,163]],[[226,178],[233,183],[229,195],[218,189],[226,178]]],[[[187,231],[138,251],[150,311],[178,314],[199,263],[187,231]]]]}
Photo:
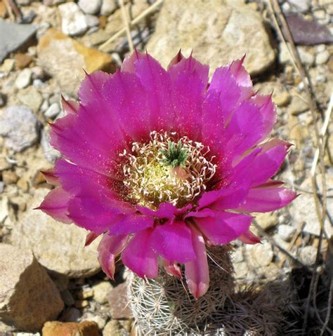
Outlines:
{"type": "Polygon", "coordinates": [[[259,13],[226,0],[164,1],[148,52],[166,67],[181,51],[208,64],[210,71],[246,54],[245,67],[259,74],[275,60],[259,13]],[[200,8],[200,10],[198,10],[200,8]],[[167,33],[166,33],[167,32],[167,33]]]}

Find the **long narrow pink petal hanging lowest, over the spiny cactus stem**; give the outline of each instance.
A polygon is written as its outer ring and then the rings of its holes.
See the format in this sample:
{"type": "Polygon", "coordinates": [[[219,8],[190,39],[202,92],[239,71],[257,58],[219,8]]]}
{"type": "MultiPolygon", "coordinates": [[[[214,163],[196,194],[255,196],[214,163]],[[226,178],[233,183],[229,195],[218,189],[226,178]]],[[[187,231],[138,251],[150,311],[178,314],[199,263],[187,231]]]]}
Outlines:
{"type": "Polygon", "coordinates": [[[190,293],[198,299],[204,295],[209,287],[209,269],[207,262],[206,246],[204,238],[195,227],[190,227],[192,233],[192,244],[196,258],[185,264],[185,277],[190,293]]]}

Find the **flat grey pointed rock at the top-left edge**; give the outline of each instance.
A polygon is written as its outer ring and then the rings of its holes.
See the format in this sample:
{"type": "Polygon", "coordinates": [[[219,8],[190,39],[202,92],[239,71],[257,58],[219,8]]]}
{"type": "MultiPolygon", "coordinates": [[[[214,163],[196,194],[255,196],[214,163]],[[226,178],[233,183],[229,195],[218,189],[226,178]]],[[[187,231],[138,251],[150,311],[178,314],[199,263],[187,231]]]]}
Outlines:
{"type": "Polygon", "coordinates": [[[21,25],[0,20],[0,63],[7,55],[26,43],[36,32],[37,26],[21,25]]]}

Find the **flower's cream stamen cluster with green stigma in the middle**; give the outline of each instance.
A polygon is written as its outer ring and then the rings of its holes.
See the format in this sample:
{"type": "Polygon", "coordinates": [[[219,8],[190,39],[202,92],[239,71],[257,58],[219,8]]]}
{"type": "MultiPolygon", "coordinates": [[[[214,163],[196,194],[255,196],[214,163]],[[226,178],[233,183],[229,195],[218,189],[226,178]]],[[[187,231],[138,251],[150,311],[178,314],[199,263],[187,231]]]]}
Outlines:
{"type": "Polygon", "coordinates": [[[216,173],[216,165],[207,159],[209,147],[176,133],[150,133],[150,142],[133,142],[122,167],[129,199],[141,206],[157,208],[169,202],[182,207],[194,201],[216,173]]]}

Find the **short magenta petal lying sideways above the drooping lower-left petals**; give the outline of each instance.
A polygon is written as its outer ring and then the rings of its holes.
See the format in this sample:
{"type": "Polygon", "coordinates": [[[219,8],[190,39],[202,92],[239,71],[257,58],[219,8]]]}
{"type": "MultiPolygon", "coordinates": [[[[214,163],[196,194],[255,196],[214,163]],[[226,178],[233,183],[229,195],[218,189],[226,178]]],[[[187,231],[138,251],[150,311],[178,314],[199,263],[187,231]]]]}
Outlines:
{"type": "Polygon", "coordinates": [[[133,234],[134,232],[142,231],[154,225],[154,218],[151,216],[137,215],[121,215],[119,220],[115,220],[110,224],[110,234],[133,234]]]}

